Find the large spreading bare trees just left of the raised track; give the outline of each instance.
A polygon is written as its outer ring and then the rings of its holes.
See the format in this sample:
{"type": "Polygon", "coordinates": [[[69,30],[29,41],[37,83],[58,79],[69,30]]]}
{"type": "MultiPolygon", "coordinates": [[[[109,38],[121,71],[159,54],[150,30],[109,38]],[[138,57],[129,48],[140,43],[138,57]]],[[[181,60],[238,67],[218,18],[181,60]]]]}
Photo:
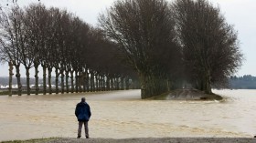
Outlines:
{"type": "MultiPolygon", "coordinates": [[[[120,0],[100,16],[106,36],[123,51],[141,82],[141,97],[167,90],[166,72],[155,58],[169,52],[174,44],[174,22],[165,0],[120,0]],[[155,53],[155,51],[159,51],[155,53]]],[[[161,60],[157,60],[161,61],[161,60]]]]}

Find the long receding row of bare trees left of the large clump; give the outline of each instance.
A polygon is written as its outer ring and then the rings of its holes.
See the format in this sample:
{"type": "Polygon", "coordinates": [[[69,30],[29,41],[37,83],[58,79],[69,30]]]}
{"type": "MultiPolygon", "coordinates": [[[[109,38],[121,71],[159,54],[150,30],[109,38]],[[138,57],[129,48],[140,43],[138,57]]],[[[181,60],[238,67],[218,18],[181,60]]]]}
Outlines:
{"type": "Polygon", "coordinates": [[[22,94],[20,66],[26,69],[27,95],[31,90],[29,70],[32,67],[35,69],[36,94],[39,92],[39,66],[43,69],[44,94],[47,90],[49,94],[53,92],[53,70],[57,94],[59,86],[61,93],[129,87],[129,78],[134,74],[117,60],[122,54],[116,50],[116,45],[106,40],[101,30],[66,10],[46,8],[42,4],[25,8],[16,5],[1,11],[0,24],[1,58],[9,62],[10,81],[12,66],[16,68],[18,95],[22,94]]]}

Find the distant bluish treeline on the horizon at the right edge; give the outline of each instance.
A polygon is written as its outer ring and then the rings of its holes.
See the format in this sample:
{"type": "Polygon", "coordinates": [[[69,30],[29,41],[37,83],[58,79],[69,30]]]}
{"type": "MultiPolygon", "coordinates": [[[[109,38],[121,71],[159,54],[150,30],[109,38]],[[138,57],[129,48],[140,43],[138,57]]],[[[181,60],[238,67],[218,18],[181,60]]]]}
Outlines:
{"type": "Polygon", "coordinates": [[[256,89],[256,77],[245,75],[243,77],[229,77],[229,88],[234,89],[256,89]]]}

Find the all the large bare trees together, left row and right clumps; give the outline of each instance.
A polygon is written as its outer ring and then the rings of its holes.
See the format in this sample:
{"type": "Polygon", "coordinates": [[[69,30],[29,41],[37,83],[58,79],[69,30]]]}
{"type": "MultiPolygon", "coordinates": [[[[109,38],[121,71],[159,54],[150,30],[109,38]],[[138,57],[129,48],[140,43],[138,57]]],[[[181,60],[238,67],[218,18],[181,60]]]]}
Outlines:
{"type": "Polygon", "coordinates": [[[93,28],[40,4],[14,7],[1,15],[2,58],[16,67],[17,79],[19,66],[26,67],[27,85],[29,69],[35,67],[37,80],[42,66],[44,91],[48,71],[50,93],[53,69],[57,93],[59,77],[61,92],[65,82],[69,92],[69,76],[73,92],[74,81],[76,91],[78,85],[108,90],[113,83],[123,88],[127,76],[137,75],[142,98],[178,87],[181,80],[210,94],[212,85],[225,84],[241,65],[237,32],[208,0],[117,0],[99,23],[93,28]]]}

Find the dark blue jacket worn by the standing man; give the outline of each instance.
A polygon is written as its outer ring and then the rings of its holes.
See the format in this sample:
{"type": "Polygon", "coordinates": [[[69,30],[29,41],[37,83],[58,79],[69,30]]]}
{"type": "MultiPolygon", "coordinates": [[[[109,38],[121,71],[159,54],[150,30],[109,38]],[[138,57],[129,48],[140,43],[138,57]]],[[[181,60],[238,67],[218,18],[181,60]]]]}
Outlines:
{"type": "Polygon", "coordinates": [[[75,115],[78,121],[89,121],[91,117],[90,106],[86,102],[80,102],[77,104],[75,115]]]}

